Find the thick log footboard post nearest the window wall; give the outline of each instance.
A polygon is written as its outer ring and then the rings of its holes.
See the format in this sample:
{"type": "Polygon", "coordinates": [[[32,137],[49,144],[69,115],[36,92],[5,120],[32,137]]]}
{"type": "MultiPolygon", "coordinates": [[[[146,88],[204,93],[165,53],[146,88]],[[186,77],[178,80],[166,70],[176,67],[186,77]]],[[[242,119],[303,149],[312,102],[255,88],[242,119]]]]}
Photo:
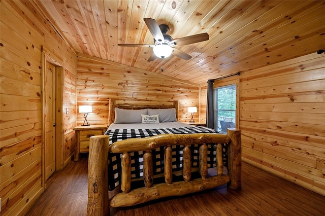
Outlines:
{"type": "Polygon", "coordinates": [[[242,185],[242,143],[240,129],[228,128],[230,145],[228,146],[228,175],[230,176],[229,188],[240,189],[242,185]]]}

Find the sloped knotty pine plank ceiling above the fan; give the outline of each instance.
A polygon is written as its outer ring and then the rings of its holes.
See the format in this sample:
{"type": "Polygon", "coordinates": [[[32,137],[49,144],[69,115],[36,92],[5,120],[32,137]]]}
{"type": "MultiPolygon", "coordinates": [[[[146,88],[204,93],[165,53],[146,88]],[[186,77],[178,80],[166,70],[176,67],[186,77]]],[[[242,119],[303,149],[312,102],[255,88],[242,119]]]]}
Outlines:
{"type": "Polygon", "coordinates": [[[325,49],[325,1],[54,0],[34,4],[77,52],[194,83],[325,49]],[[171,56],[147,62],[152,48],[117,46],[153,44],[146,17],[168,24],[174,39],[203,32],[210,39],[179,47],[192,56],[190,60],[171,56]]]}

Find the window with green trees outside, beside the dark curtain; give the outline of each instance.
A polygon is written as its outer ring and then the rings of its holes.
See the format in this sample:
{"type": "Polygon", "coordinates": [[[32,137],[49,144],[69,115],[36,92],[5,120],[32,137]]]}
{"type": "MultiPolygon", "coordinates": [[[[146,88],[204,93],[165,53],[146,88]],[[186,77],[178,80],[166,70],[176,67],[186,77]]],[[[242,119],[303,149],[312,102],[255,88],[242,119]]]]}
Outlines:
{"type": "Polygon", "coordinates": [[[221,133],[236,127],[236,84],[214,89],[214,127],[221,133]]]}

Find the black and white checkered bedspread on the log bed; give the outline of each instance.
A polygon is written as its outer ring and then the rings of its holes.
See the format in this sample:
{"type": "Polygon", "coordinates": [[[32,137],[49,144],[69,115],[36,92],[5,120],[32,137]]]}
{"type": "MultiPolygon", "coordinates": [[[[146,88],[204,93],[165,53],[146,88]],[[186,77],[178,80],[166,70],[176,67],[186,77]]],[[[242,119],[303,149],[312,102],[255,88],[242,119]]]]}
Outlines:
{"type": "MultiPolygon", "coordinates": [[[[127,138],[144,138],[158,134],[188,134],[188,133],[217,133],[214,129],[193,126],[182,128],[165,128],[165,129],[113,129],[105,132],[105,135],[110,136],[109,145],[112,143],[127,139],[127,138]]],[[[173,146],[173,171],[181,170],[183,163],[183,149],[184,146],[173,146]]],[[[152,150],[153,174],[164,173],[164,148],[160,147],[152,150]]],[[[130,153],[131,156],[131,177],[143,177],[143,154],[144,152],[130,153]]],[[[191,147],[192,167],[199,166],[199,147],[194,145],[191,147]]],[[[216,152],[214,145],[208,145],[208,167],[216,166],[216,152]]],[[[223,146],[223,163],[226,165],[227,160],[226,145],[223,146]]],[[[109,190],[113,190],[121,183],[121,154],[109,154],[108,161],[108,177],[109,190]]]]}

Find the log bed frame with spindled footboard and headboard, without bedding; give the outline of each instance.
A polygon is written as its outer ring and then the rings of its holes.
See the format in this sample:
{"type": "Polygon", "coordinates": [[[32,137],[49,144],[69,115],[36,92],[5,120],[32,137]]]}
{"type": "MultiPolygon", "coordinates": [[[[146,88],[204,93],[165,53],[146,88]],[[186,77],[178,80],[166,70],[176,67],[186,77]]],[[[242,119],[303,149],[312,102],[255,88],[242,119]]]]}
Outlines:
{"type": "MultiPolygon", "coordinates": [[[[110,99],[109,123],[114,122],[114,108],[123,109],[163,109],[176,107],[173,105],[127,105],[115,104],[110,99]]],[[[177,116],[177,115],[176,115],[177,116]]],[[[241,188],[241,135],[240,130],[229,128],[228,134],[160,134],[146,138],[131,138],[117,141],[109,146],[109,136],[99,135],[90,137],[88,159],[88,204],[87,215],[109,215],[111,207],[132,206],[147,201],[182,196],[189,193],[212,189],[228,184],[231,189],[241,188]],[[207,176],[207,143],[216,145],[217,175],[207,176]],[[223,174],[222,143],[228,143],[228,174],[223,174]],[[200,146],[199,173],[200,178],[191,179],[191,151],[190,146],[200,146]],[[183,179],[181,182],[172,182],[172,146],[184,145],[183,148],[183,179]],[[165,183],[153,184],[151,150],[165,147],[164,176],[165,183]],[[143,179],[145,187],[131,190],[131,159],[130,152],[144,151],[143,179]],[[108,154],[121,153],[122,182],[121,193],[116,194],[110,201],[108,197],[108,154]]]]}

